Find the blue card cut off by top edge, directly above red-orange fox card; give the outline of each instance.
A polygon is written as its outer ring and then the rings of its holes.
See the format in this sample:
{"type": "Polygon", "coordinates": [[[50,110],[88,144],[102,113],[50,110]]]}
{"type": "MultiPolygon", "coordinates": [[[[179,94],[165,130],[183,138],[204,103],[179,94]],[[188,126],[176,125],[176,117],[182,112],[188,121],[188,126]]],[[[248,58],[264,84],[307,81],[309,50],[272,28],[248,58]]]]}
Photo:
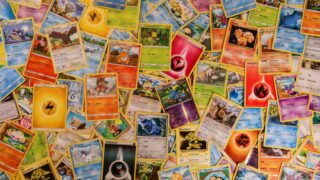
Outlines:
{"type": "Polygon", "coordinates": [[[257,7],[255,0],[221,0],[221,4],[228,18],[257,7]]]}

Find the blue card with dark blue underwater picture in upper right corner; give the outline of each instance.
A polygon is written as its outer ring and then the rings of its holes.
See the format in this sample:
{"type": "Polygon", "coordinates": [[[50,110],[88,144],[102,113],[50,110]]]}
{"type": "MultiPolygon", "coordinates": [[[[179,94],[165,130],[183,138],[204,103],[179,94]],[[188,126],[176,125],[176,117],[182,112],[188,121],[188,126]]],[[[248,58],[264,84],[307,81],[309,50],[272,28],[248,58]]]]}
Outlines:
{"type": "Polygon", "coordinates": [[[300,33],[302,7],[281,4],[273,49],[295,54],[303,53],[306,36],[300,33]]]}

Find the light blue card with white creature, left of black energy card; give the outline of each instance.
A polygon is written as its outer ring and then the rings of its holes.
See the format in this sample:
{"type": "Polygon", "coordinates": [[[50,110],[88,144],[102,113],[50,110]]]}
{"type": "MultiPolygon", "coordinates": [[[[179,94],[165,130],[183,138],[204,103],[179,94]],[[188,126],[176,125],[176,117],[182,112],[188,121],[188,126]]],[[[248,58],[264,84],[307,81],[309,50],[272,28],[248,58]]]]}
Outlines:
{"type": "Polygon", "coordinates": [[[102,179],[100,140],[95,139],[72,145],[70,157],[76,179],[102,179]]]}

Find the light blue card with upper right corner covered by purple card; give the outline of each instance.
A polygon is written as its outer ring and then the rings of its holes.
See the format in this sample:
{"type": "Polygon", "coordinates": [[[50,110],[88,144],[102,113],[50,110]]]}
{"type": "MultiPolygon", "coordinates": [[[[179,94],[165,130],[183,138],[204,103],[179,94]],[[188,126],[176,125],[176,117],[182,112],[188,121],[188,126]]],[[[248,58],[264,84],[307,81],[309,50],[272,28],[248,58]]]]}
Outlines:
{"type": "Polygon", "coordinates": [[[295,149],[298,146],[298,121],[280,122],[278,102],[269,100],[264,146],[295,149]]]}

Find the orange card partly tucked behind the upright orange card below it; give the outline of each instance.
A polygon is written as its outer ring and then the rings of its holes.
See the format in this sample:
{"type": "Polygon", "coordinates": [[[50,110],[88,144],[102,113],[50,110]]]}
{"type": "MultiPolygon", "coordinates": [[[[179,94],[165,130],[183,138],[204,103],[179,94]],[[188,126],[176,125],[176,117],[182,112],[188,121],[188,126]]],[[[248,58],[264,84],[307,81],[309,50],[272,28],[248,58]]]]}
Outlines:
{"type": "Polygon", "coordinates": [[[140,56],[139,43],[122,41],[109,43],[106,70],[108,73],[118,73],[119,88],[137,88],[140,56]]]}

